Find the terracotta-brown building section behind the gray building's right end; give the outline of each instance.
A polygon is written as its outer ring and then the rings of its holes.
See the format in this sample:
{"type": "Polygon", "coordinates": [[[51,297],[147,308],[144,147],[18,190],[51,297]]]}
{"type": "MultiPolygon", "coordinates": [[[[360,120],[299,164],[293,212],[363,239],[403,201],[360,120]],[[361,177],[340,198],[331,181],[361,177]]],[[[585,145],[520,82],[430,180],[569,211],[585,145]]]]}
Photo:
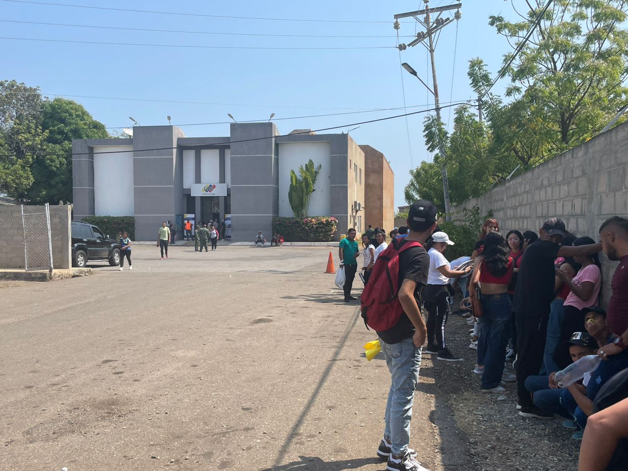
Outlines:
{"type": "Polygon", "coordinates": [[[360,146],[365,160],[364,227],[394,227],[394,173],[386,156],[371,146],[360,146]]]}

